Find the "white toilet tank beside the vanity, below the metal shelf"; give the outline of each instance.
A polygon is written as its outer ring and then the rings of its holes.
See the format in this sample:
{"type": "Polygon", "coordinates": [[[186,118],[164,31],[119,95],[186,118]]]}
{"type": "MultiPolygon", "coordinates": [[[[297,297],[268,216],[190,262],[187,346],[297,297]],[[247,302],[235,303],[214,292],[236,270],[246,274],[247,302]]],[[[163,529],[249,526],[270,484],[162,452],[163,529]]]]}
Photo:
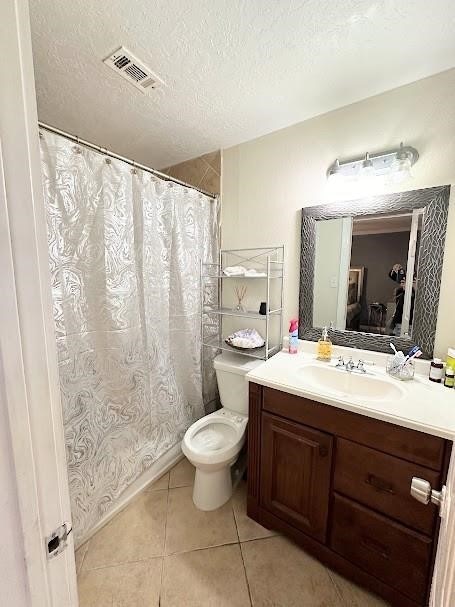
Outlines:
{"type": "Polygon", "coordinates": [[[245,375],[262,362],[229,352],[215,358],[213,366],[223,407],[248,415],[248,382],[245,375]]]}

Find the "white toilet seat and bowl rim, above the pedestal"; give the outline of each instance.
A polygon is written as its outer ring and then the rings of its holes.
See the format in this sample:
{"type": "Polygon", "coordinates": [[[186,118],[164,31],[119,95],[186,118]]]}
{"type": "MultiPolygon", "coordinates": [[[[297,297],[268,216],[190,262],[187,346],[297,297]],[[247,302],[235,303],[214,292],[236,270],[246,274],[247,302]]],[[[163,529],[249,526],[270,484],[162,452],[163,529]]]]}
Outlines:
{"type": "Polygon", "coordinates": [[[217,465],[235,458],[243,446],[246,415],[221,409],[195,422],[185,433],[183,453],[195,463],[217,465]]]}

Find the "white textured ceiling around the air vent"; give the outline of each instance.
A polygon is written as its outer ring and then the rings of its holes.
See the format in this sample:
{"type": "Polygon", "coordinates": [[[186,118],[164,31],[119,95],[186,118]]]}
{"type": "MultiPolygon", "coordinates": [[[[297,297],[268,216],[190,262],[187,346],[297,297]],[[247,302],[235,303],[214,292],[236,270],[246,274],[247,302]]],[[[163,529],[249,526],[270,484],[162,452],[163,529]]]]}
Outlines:
{"type": "Polygon", "coordinates": [[[30,0],[30,12],[40,119],[155,167],[455,64],[453,0],[30,0]],[[143,95],[103,65],[120,45],[166,86],[143,95]]]}

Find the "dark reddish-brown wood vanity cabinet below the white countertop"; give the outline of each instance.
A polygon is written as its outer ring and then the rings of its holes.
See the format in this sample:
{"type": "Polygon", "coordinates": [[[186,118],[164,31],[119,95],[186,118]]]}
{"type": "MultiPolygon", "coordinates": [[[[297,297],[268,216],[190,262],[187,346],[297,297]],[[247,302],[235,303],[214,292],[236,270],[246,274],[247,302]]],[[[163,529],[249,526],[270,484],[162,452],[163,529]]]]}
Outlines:
{"type": "Polygon", "coordinates": [[[397,607],[426,605],[452,443],[250,384],[248,515],[397,607]]]}

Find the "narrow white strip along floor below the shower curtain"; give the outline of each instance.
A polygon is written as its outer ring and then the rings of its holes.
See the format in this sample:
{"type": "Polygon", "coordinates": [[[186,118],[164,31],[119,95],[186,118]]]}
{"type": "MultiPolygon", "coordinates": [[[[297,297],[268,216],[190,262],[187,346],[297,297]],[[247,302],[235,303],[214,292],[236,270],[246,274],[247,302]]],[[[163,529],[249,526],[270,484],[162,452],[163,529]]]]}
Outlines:
{"type": "Polygon", "coordinates": [[[184,455],[180,447],[180,442],[166,451],[156,462],[154,462],[148,470],[146,470],[139,478],[137,478],[126,489],[119,499],[106,514],[98,521],[98,523],[90,529],[75,545],[77,550],[82,544],[85,544],[97,531],[104,527],[110,520],[114,518],[121,510],[126,508],[128,504],[138,495],[147,485],[158,480],[163,474],[166,474],[177,462],[183,459],[184,455]]]}

